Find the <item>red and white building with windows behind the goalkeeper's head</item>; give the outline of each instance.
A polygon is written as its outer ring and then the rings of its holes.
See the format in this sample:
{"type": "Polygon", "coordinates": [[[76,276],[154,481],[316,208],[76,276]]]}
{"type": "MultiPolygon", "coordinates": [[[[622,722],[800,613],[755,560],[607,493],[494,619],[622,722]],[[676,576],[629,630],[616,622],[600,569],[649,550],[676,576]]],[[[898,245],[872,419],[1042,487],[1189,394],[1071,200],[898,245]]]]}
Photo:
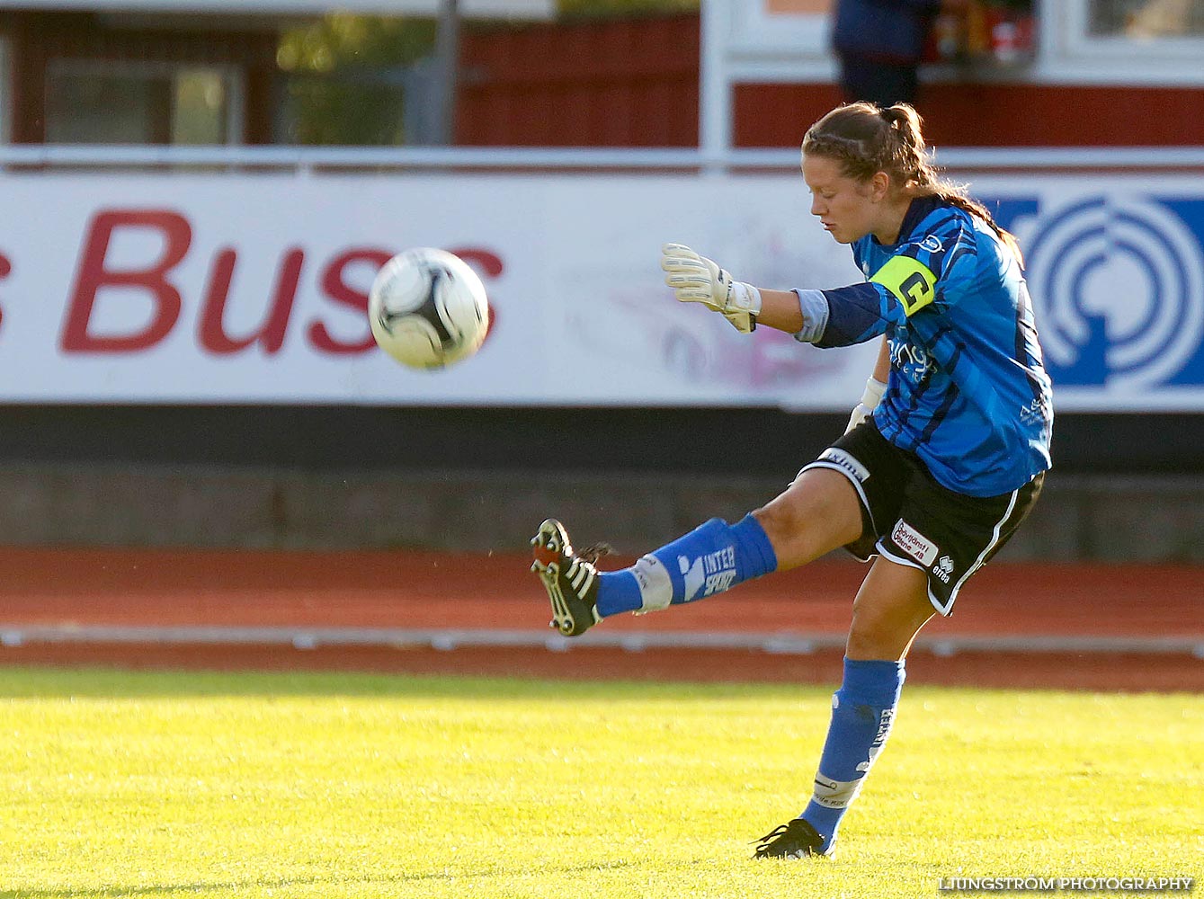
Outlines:
{"type": "MultiPolygon", "coordinates": [[[[837,100],[830,0],[712,0],[703,143],[792,146],[837,100]]],[[[1200,0],[972,0],[934,28],[921,111],[937,146],[1204,143],[1200,0]]]]}

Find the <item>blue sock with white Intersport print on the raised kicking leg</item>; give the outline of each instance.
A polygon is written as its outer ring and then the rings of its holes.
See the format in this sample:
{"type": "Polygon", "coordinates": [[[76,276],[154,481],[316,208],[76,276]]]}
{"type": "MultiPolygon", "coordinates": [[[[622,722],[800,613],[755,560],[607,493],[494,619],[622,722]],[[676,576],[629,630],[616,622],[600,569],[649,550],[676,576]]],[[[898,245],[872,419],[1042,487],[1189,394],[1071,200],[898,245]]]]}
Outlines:
{"type": "Polygon", "coordinates": [[[777,567],[778,556],[755,517],[745,515],[734,525],[712,519],[631,568],[602,573],[596,607],[603,617],[654,611],[720,593],[777,567]]]}

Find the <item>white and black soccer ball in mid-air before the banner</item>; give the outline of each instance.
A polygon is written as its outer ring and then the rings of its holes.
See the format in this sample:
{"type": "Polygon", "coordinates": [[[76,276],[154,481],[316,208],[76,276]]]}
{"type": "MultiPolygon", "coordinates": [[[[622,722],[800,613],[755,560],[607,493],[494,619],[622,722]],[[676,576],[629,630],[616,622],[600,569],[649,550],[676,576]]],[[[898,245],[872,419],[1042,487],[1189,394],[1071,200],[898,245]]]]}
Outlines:
{"type": "Polygon", "coordinates": [[[467,359],[485,339],[485,285],[459,256],[418,247],[380,268],[368,290],[372,336],[411,368],[442,368],[467,359]]]}

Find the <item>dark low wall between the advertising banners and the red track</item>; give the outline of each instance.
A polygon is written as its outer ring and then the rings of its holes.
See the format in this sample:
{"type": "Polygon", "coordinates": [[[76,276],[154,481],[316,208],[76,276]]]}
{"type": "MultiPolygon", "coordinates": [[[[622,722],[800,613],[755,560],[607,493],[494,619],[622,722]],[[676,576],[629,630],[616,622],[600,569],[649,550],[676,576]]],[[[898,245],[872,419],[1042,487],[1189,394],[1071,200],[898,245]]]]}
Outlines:
{"type": "MultiPolygon", "coordinates": [[[[768,409],[0,408],[0,544],[644,551],[780,492],[844,416],[768,409]]],[[[1003,558],[1204,561],[1204,416],[1066,415],[1003,558]],[[1157,434],[1157,439],[1151,436],[1157,434]]]]}

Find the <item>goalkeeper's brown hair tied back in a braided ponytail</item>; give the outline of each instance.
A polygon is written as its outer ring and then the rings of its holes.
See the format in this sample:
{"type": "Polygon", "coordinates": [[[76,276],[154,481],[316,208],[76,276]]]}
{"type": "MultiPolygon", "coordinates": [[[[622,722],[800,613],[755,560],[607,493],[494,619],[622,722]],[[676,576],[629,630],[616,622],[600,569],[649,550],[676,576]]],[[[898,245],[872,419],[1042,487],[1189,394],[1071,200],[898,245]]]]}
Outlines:
{"type": "Polygon", "coordinates": [[[921,123],[920,113],[908,103],[886,108],[869,102],[846,103],[807,129],[803,153],[836,160],[844,175],[857,182],[886,172],[895,184],[910,187],[914,196],[934,196],[978,215],[1023,265],[1016,238],[996,224],[995,217],[970,197],[963,184],[940,177],[920,132],[921,123]]]}

